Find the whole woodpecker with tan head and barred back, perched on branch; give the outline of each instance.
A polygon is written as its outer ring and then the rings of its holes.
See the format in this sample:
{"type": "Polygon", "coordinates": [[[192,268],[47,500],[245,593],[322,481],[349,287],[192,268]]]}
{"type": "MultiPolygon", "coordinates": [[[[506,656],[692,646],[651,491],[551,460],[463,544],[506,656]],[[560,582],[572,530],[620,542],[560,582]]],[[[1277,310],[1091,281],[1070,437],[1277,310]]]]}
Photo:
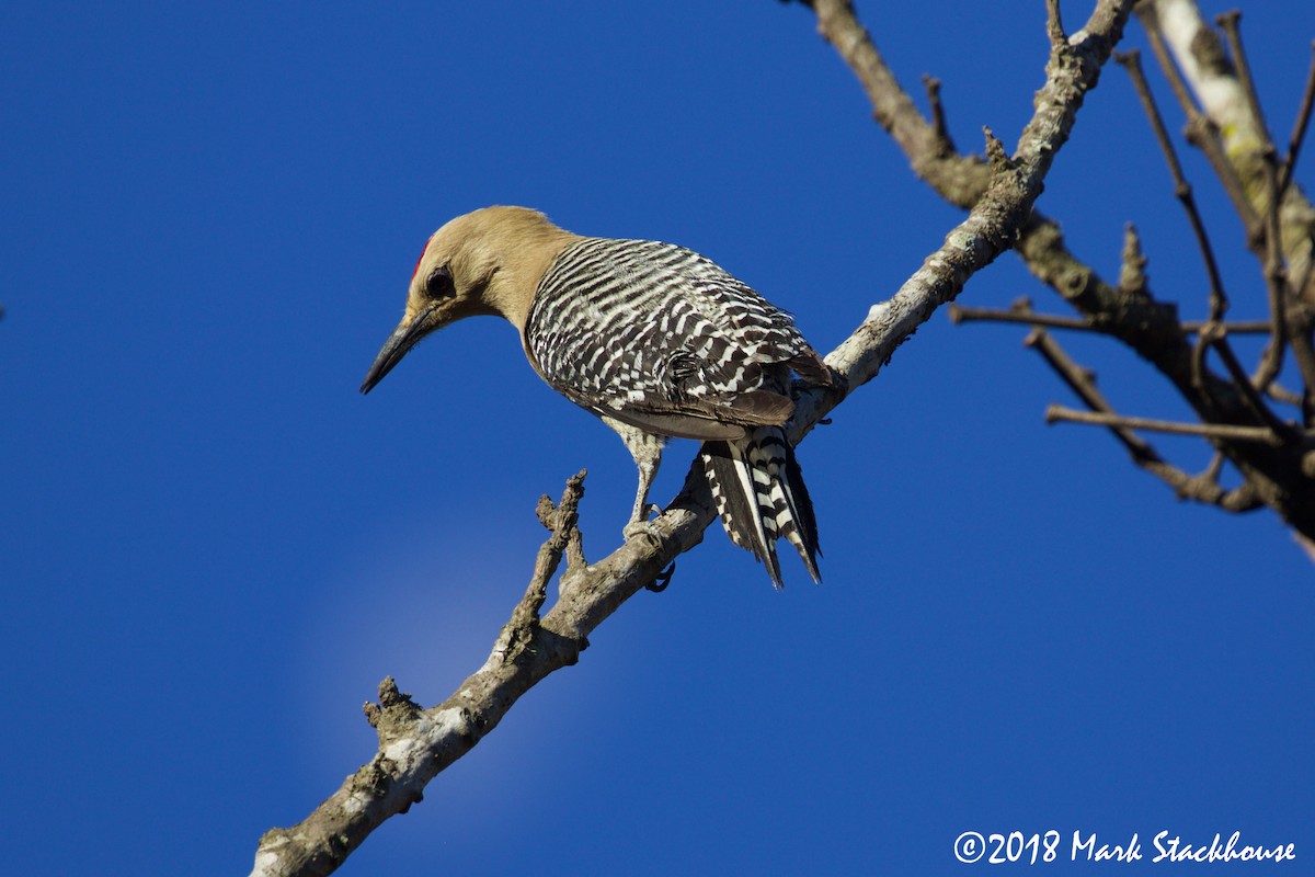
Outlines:
{"type": "Polygon", "coordinates": [[[831,372],[789,314],[684,247],[585,238],[535,210],[490,206],[425,245],[360,392],[429,333],[477,314],[510,321],[539,376],[621,434],[639,467],[627,536],[648,526],[665,439],[700,439],[731,540],[777,588],[780,538],[821,580],[813,502],[781,427],[794,410],[792,371],[811,385],[831,372]]]}

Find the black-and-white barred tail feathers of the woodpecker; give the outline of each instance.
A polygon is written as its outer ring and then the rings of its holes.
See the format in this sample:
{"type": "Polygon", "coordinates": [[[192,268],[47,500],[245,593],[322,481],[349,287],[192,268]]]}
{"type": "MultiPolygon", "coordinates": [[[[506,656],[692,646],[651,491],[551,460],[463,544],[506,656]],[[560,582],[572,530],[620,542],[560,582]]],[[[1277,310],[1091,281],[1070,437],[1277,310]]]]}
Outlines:
{"type": "Polygon", "coordinates": [[[817,518],[794,450],[776,426],[761,426],[738,442],[704,442],[700,451],[717,513],[731,542],[752,551],[781,588],[776,540],[785,539],[821,582],[817,518]]]}

